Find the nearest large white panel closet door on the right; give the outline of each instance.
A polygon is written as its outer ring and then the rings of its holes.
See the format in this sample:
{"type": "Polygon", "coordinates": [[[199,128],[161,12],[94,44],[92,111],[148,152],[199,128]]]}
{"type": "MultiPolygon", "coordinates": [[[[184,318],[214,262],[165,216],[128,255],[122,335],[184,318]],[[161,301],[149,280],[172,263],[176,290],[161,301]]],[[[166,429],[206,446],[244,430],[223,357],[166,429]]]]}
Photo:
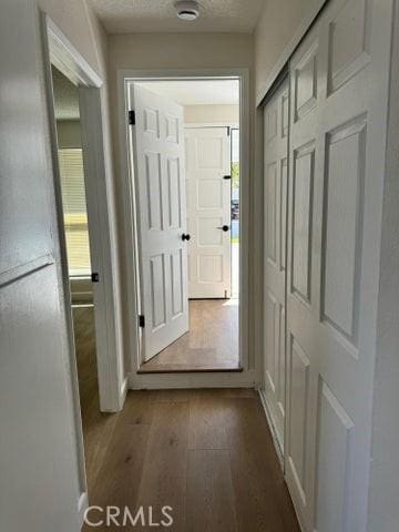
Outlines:
{"type": "Polygon", "coordinates": [[[335,0],[290,63],[285,460],[308,532],[366,530],[390,14],[335,0]]]}

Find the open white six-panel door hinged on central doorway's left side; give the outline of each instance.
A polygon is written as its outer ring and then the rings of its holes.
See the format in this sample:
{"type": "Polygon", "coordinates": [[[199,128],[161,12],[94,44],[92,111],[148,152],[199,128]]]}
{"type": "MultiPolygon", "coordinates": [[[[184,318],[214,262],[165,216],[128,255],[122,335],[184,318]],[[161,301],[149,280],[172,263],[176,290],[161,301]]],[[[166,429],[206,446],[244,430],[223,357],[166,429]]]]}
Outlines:
{"type": "Polygon", "coordinates": [[[137,84],[131,102],[147,360],[188,330],[183,108],[137,84]]]}

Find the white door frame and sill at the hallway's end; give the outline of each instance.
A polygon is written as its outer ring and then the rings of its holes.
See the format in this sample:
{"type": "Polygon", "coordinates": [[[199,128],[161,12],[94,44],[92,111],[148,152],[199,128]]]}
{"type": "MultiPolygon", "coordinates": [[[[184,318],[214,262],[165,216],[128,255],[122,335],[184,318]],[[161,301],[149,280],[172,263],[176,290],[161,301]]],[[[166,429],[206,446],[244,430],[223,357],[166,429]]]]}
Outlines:
{"type": "MultiPolygon", "coordinates": [[[[120,157],[123,182],[124,221],[126,228],[126,272],[129,323],[131,324],[129,346],[131,356],[130,388],[156,387],[212,387],[212,386],[254,386],[258,382],[257,371],[248,365],[248,257],[249,257],[249,72],[247,69],[206,69],[206,70],[120,70],[119,84],[119,123],[120,123],[120,157]],[[239,249],[239,360],[242,374],[163,374],[137,375],[142,364],[141,342],[139,335],[137,311],[137,249],[134,200],[134,168],[131,161],[131,135],[129,125],[129,85],[143,81],[167,80],[231,80],[239,81],[239,158],[241,158],[241,249],[239,249]]],[[[190,124],[187,124],[190,125],[190,124]]]]}

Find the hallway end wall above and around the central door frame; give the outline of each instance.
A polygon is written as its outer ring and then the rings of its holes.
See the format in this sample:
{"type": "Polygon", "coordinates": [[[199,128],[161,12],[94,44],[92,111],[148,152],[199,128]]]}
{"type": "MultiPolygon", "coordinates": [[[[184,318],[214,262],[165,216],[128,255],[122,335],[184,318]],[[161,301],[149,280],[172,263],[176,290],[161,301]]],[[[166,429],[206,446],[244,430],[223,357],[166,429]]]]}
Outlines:
{"type": "MultiPolygon", "coordinates": [[[[117,34],[109,38],[109,79],[110,79],[110,104],[111,109],[117,110],[119,95],[116,80],[119,70],[160,70],[160,69],[228,69],[244,68],[249,70],[250,94],[254,93],[254,49],[253,35],[243,33],[136,33],[117,34]]],[[[253,99],[250,109],[253,109],[253,99]]],[[[250,132],[253,131],[250,123],[250,132]]],[[[117,112],[112,115],[112,131],[115,139],[115,185],[117,187],[119,203],[122,205],[122,183],[120,181],[120,144],[117,112]]],[[[252,133],[250,133],[252,135],[252,133]]],[[[252,209],[249,208],[252,213],[252,209]]],[[[120,209],[120,242],[124,242],[129,227],[123,227],[123,213],[120,209]]],[[[253,279],[253,275],[249,276],[253,279]]],[[[124,317],[127,316],[127,288],[126,264],[122,277],[124,294],[124,317]]],[[[253,288],[250,288],[253,289],[253,288]]],[[[250,324],[253,321],[250,320],[250,324]]],[[[129,341],[127,331],[132,325],[125,323],[125,339],[129,341]]],[[[254,335],[249,331],[250,341],[254,335]]],[[[125,351],[129,352],[126,345],[125,351]]],[[[254,350],[249,346],[249,354],[254,350]]],[[[130,357],[131,354],[127,355],[130,357]]],[[[126,364],[130,360],[126,359],[126,364]]],[[[252,361],[253,362],[253,361],[252,361]]]]}

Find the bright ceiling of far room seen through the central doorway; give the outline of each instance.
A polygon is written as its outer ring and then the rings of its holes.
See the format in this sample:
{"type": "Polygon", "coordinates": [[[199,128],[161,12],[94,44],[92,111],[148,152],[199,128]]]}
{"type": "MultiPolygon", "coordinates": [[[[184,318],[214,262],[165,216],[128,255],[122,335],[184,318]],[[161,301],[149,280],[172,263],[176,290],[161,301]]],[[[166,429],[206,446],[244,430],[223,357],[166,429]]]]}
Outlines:
{"type": "Polygon", "coordinates": [[[238,105],[239,83],[236,80],[147,81],[140,85],[181,105],[238,105]]]}

